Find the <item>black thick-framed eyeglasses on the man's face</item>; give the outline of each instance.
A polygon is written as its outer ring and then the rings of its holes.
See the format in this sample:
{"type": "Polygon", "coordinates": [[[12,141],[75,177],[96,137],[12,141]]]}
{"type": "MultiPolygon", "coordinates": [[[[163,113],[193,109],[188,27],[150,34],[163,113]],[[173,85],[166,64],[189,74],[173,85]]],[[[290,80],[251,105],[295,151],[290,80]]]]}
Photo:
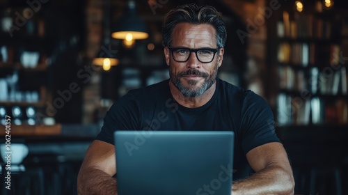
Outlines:
{"type": "Polygon", "coordinates": [[[202,47],[198,49],[191,49],[189,47],[168,47],[168,49],[171,50],[174,61],[186,62],[189,60],[191,53],[195,52],[198,61],[201,63],[212,62],[216,52],[219,51],[219,47],[202,47]]]}

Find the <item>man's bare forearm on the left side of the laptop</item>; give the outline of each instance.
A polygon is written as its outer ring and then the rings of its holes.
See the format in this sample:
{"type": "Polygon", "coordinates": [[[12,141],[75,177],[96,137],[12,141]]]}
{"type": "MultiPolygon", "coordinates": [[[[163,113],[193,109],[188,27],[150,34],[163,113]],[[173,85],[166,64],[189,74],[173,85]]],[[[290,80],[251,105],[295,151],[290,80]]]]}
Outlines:
{"type": "Polygon", "coordinates": [[[80,171],[77,191],[79,195],[117,194],[116,179],[104,171],[89,167],[80,171]]]}

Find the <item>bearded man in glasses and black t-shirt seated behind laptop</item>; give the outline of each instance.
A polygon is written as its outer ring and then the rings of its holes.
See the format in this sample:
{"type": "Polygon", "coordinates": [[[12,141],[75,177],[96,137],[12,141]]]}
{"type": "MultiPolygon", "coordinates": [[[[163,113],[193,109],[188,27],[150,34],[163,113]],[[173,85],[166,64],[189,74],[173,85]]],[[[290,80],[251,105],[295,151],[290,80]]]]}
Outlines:
{"type": "Polygon", "coordinates": [[[221,14],[210,6],[180,6],[166,15],[162,33],[170,79],[130,91],[109,109],[79,171],[79,194],[116,194],[113,131],[161,129],[232,130],[232,194],[293,194],[292,169],[269,125],[268,104],[216,79],[226,41],[221,14]]]}

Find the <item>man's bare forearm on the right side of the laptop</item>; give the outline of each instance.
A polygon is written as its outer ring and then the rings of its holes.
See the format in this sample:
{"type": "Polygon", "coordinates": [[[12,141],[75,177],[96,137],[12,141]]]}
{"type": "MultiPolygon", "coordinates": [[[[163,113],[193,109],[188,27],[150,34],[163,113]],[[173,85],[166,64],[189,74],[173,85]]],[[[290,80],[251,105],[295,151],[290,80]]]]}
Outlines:
{"type": "Polygon", "coordinates": [[[233,183],[232,194],[294,194],[294,179],[292,173],[281,167],[269,166],[246,180],[233,183]]]}

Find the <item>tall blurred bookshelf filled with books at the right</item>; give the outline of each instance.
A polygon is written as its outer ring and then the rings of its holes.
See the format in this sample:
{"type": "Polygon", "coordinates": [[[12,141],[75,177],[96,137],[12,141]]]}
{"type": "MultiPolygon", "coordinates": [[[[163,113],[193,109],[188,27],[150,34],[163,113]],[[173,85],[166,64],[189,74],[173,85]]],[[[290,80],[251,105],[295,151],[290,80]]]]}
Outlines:
{"type": "Polygon", "coordinates": [[[347,16],[322,1],[306,1],[301,12],[282,2],[268,35],[277,127],[348,126],[347,16]]]}

